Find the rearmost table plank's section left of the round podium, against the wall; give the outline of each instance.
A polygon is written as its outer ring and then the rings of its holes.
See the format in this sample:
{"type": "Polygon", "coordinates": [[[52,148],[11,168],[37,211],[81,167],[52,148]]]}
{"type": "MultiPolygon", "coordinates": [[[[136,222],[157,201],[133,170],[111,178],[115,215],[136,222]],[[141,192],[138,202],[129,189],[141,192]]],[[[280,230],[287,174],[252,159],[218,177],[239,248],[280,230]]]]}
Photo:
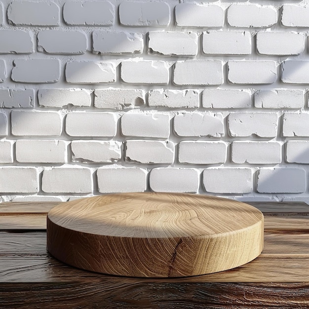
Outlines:
{"type": "Polygon", "coordinates": [[[0,215],[21,213],[45,213],[62,202],[4,202],[0,204],[0,215]]]}

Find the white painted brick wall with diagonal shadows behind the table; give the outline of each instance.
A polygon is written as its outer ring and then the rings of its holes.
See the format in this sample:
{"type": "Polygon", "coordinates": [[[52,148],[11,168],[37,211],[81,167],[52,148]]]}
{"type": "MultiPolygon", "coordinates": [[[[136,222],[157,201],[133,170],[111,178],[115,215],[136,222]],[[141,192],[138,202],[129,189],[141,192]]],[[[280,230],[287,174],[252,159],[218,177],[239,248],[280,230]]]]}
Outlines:
{"type": "Polygon", "coordinates": [[[308,3],[0,1],[0,196],[309,202],[308,3]]]}

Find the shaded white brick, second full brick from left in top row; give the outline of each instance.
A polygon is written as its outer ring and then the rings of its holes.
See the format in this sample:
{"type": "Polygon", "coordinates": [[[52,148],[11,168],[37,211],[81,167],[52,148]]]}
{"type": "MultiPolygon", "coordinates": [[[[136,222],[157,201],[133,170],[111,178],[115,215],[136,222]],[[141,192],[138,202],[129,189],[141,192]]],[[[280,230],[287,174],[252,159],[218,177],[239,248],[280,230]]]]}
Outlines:
{"type": "Polygon", "coordinates": [[[67,1],[63,18],[72,26],[113,26],[115,8],[108,1],[67,1]]]}

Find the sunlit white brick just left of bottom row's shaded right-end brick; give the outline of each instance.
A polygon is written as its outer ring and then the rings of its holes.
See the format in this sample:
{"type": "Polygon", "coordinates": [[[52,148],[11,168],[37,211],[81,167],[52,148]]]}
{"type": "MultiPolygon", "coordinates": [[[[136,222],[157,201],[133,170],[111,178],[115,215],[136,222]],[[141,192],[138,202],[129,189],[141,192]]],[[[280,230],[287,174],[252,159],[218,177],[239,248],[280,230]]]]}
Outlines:
{"type": "Polygon", "coordinates": [[[250,193],[252,172],[244,167],[209,167],[203,172],[203,184],[211,193],[250,193]]]}

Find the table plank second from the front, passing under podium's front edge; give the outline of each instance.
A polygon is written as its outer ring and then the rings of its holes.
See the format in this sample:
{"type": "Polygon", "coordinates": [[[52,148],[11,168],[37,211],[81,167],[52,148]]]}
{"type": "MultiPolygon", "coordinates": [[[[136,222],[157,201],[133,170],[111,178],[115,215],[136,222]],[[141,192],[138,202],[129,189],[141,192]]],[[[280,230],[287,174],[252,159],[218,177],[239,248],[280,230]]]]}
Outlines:
{"type": "Polygon", "coordinates": [[[117,277],[78,270],[50,255],[0,257],[0,282],[309,282],[309,258],[257,258],[232,270],[182,278],[117,277]]]}

